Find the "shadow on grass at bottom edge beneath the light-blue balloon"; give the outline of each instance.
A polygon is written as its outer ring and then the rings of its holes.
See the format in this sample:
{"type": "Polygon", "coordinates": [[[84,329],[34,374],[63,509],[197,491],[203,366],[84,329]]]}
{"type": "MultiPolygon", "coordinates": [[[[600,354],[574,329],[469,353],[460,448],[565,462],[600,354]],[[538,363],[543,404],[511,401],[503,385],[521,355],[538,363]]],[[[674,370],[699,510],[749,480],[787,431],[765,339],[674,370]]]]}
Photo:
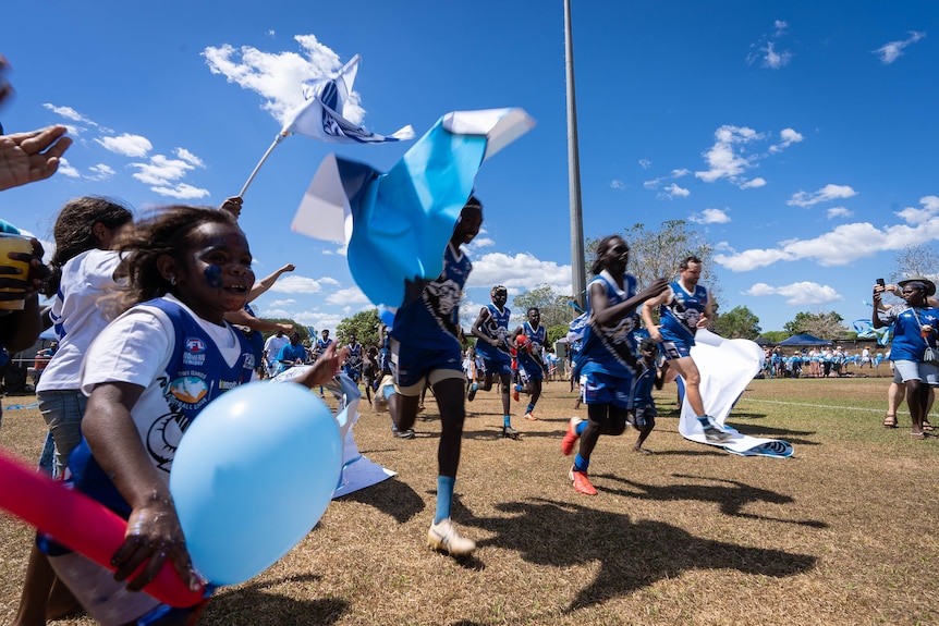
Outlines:
{"type": "Polygon", "coordinates": [[[288,576],[219,593],[206,606],[202,618],[228,626],[336,624],[349,611],[349,602],[337,598],[294,600],[266,591],[282,582],[302,584],[318,579],[319,576],[312,574],[288,576]]]}

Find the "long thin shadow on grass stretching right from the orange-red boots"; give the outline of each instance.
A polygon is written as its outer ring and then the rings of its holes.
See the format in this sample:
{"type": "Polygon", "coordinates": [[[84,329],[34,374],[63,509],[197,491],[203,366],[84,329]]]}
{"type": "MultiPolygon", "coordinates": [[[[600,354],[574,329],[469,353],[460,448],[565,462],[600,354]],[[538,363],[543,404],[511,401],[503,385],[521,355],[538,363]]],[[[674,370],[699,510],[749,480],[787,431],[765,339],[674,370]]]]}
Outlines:
{"type": "Polygon", "coordinates": [[[696,500],[698,502],[714,502],[715,504],[720,505],[721,513],[733,517],[742,517],[744,519],[759,519],[761,521],[780,521],[783,524],[808,526],[809,528],[829,527],[827,523],[815,519],[782,519],[780,517],[767,517],[765,515],[743,513],[743,507],[752,502],[767,502],[769,504],[791,504],[792,502],[795,502],[795,500],[791,495],[778,493],[769,489],[751,487],[749,484],[740,482],[739,480],[688,476],[684,474],[672,474],[672,478],[690,478],[697,481],[707,481],[708,483],[656,486],[643,484],[642,482],[629,480],[613,475],[598,474],[597,477],[602,477],[607,480],[621,482],[631,487],[632,490],[603,490],[605,492],[612,493],[614,495],[622,495],[623,498],[635,498],[637,500],[657,500],[662,502],[675,500],[696,500]]]}

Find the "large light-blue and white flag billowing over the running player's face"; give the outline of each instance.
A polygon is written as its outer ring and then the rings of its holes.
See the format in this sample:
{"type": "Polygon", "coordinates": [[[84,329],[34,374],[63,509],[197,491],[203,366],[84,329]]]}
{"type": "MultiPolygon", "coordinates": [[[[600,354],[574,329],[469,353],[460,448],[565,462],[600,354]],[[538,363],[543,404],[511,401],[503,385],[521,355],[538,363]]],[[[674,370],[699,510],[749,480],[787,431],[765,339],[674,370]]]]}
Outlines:
{"type": "Polygon", "coordinates": [[[388,173],[330,155],[291,228],[347,243],[349,269],[368,299],[401,306],[407,284],[443,270],[443,250],[483,161],[534,125],[522,109],[448,113],[388,173]]]}

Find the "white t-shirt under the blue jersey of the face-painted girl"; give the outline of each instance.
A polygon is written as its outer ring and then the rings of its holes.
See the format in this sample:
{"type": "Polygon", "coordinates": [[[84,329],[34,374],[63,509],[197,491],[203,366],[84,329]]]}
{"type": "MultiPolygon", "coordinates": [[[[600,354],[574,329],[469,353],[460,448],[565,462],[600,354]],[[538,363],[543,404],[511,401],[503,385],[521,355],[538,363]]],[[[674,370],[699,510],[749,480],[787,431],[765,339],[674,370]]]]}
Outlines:
{"type": "MultiPolygon", "coordinates": [[[[235,335],[237,330],[229,323],[216,326],[199,318],[172,295],[163,297],[192,315],[218,346],[225,363],[230,367],[235,365],[242,355],[235,335]]],[[[183,434],[159,383],[175,348],[174,337],[173,322],[163,311],[146,305],[136,306],[98,335],[88,347],[82,368],[85,395],[90,395],[95,385],[105,382],[129,382],[144,388],[131,417],[154,465],[164,471],[170,470],[172,455],[183,434]]]]}

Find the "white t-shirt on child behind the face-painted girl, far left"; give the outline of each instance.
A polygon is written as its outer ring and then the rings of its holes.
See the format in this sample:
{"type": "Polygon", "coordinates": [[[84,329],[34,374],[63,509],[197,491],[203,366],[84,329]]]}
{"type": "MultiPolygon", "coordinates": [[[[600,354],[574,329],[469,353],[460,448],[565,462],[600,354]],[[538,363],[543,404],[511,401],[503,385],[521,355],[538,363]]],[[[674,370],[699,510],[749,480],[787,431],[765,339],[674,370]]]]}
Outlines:
{"type": "Polygon", "coordinates": [[[114,284],[121,259],[113,250],[93,249],[62,266],[62,282],[50,317],[59,336],[59,351],[42,371],[37,392],[78,389],[82,359],[92,341],[108,326],[98,298],[114,284]]]}

